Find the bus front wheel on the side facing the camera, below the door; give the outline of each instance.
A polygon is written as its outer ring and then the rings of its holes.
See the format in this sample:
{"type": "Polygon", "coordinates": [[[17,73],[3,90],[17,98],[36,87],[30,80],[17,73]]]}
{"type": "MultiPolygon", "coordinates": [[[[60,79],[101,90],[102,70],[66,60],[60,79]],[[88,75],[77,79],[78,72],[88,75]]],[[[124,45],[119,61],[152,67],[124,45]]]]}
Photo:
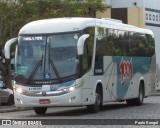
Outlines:
{"type": "Polygon", "coordinates": [[[88,105],[87,106],[88,111],[93,112],[93,113],[98,112],[99,109],[100,109],[100,102],[101,102],[100,95],[99,95],[99,93],[96,92],[95,103],[93,105],[88,105]]]}

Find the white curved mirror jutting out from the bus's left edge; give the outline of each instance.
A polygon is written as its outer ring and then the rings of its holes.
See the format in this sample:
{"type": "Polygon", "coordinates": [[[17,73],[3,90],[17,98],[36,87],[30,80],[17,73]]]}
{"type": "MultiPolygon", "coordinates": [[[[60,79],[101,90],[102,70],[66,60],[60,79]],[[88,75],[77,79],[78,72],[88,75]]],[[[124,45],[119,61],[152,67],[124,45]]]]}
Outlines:
{"type": "Polygon", "coordinates": [[[6,59],[10,59],[10,46],[17,41],[17,38],[12,38],[6,42],[4,46],[4,55],[6,59]]]}

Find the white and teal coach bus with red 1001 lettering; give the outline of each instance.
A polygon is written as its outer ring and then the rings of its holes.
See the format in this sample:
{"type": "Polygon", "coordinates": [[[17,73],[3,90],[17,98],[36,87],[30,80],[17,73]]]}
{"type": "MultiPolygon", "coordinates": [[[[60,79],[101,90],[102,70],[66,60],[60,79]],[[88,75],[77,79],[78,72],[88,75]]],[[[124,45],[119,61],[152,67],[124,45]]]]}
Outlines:
{"type": "Polygon", "coordinates": [[[45,114],[49,107],[108,102],[142,105],[155,91],[153,32],[119,20],[53,18],[33,21],[7,41],[16,42],[14,98],[17,107],[45,114]]]}

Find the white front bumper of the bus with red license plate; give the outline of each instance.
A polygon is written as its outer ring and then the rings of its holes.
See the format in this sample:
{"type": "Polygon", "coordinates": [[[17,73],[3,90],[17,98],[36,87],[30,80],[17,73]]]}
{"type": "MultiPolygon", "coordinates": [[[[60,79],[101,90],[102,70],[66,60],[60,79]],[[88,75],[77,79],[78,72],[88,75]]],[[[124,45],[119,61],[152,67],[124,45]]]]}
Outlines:
{"type": "Polygon", "coordinates": [[[58,96],[26,96],[14,91],[16,107],[82,106],[81,88],[58,96]]]}

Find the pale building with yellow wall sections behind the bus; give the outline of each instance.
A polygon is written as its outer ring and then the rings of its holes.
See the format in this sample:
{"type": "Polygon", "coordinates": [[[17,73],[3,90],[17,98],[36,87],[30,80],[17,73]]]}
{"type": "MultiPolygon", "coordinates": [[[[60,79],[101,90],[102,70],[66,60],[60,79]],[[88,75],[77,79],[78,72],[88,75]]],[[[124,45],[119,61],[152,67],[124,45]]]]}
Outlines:
{"type": "Polygon", "coordinates": [[[106,10],[97,12],[97,18],[113,18],[123,23],[147,28],[155,35],[157,78],[160,90],[160,0],[104,0],[106,10]]]}

